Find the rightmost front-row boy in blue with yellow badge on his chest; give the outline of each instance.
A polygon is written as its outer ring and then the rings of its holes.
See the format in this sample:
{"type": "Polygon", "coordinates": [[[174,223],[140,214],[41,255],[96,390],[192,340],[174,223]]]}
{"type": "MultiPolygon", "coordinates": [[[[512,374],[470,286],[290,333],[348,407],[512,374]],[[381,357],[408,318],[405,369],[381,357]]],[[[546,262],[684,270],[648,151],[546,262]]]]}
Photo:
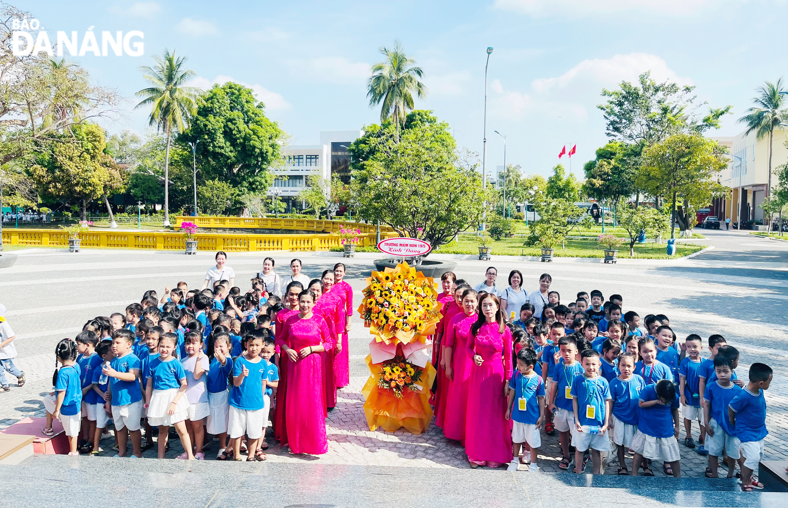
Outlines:
{"type": "Polygon", "coordinates": [[[610,425],[612,396],[608,380],[599,375],[600,359],[595,350],[585,350],[580,354],[585,373],[572,380],[572,410],[574,412],[574,472],[581,474],[583,454],[589,448],[593,460],[593,473],[601,474],[602,456],[600,452],[610,450],[610,439],[605,436],[610,425]]]}

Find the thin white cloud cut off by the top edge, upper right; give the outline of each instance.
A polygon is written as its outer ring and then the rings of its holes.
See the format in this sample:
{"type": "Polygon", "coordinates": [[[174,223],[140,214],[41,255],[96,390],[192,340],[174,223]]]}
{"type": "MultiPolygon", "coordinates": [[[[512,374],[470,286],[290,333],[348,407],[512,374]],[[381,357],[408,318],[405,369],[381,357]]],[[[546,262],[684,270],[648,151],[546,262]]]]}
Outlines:
{"type": "Polygon", "coordinates": [[[663,16],[694,16],[723,4],[747,0],[496,0],[495,6],[531,17],[585,16],[637,12],[663,16]]]}

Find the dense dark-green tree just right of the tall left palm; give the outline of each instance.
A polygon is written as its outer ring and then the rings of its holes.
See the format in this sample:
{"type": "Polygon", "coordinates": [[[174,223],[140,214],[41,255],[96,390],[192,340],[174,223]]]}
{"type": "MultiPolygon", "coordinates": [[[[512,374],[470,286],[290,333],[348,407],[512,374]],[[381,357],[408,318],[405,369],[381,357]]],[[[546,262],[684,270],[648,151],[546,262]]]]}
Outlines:
{"type": "Polygon", "coordinates": [[[178,141],[199,141],[197,165],[206,179],[229,182],[240,195],[266,192],[273,184],[269,168],[282,162],[284,132],[265,108],[250,88],[214,85],[178,141]]]}

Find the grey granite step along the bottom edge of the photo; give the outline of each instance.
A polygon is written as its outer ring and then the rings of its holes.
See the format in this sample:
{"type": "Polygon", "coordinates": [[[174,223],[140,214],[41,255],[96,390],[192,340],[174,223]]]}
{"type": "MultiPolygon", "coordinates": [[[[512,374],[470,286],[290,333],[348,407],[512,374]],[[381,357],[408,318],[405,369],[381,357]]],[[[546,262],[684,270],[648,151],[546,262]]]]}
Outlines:
{"type": "Polygon", "coordinates": [[[746,506],[788,495],[742,492],[733,480],[592,476],[282,462],[35,455],[0,465],[9,506],[746,506]],[[70,501],[67,501],[71,499],[70,501]],[[62,502],[62,504],[61,504],[62,502]],[[44,504],[46,503],[46,504],[44,504]]]}

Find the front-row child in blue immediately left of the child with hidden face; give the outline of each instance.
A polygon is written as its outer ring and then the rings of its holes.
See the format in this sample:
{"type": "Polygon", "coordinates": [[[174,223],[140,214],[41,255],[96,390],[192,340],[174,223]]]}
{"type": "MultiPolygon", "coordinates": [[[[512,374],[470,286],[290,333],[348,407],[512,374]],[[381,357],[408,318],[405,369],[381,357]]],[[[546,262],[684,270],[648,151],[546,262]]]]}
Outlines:
{"type": "Polygon", "coordinates": [[[629,473],[626,469],[625,452],[632,444],[632,438],[637,432],[637,408],[640,393],[645,388],[643,378],[634,373],[635,359],[633,353],[619,355],[619,376],[610,381],[610,395],[613,398],[610,425],[613,432],[613,443],[618,448],[619,457],[618,474],[623,476],[629,473]]]}

